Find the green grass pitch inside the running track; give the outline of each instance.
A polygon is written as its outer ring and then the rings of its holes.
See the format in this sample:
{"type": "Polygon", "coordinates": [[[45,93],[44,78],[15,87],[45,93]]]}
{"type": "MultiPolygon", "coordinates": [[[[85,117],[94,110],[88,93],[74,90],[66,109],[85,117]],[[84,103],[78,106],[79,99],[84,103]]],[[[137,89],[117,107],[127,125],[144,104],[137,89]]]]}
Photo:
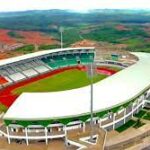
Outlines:
{"type": "MultiPolygon", "coordinates": [[[[106,78],[106,75],[99,74],[94,77],[94,83],[106,78]]],[[[51,77],[29,83],[25,86],[15,89],[13,94],[21,94],[23,92],[50,92],[63,91],[80,88],[90,84],[86,72],[78,69],[67,70],[51,77]]]]}

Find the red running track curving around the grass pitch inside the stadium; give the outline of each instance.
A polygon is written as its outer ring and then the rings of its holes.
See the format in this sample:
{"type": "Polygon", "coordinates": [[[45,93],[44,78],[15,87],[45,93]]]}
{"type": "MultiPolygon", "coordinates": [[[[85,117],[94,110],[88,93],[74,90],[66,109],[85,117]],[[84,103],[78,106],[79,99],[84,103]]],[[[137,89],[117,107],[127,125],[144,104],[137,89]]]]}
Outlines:
{"type": "MultiPolygon", "coordinates": [[[[16,100],[16,98],[18,97],[18,95],[12,94],[12,91],[14,89],[21,87],[23,85],[38,81],[40,79],[44,79],[46,77],[53,76],[55,74],[58,74],[60,72],[65,71],[65,70],[71,70],[71,69],[79,69],[79,70],[85,71],[86,67],[85,66],[74,66],[74,67],[61,68],[58,70],[48,72],[46,74],[39,75],[39,76],[34,77],[34,78],[27,79],[25,81],[21,81],[19,83],[14,83],[13,85],[10,85],[10,86],[8,86],[8,87],[6,87],[0,91],[0,103],[5,105],[6,107],[10,107],[13,104],[13,102],[16,100]]],[[[103,73],[106,75],[112,75],[112,74],[116,73],[116,71],[114,71],[114,70],[111,70],[108,68],[101,68],[101,67],[98,67],[97,71],[98,71],[98,73],[103,73]]]]}

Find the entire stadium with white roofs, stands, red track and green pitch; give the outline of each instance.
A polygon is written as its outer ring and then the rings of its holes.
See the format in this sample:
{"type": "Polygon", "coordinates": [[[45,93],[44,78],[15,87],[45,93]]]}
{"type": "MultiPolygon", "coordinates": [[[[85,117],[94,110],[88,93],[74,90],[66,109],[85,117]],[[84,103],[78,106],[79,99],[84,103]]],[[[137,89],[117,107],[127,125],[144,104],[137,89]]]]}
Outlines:
{"type": "Polygon", "coordinates": [[[90,81],[86,72],[92,63],[96,65],[96,127],[114,130],[149,107],[149,54],[100,54],[94,47],[35,52],[0,61],[0,102],[9,107],[0,134],[9,144],[15,139],[28,145],[63,138],[75,145],[69,132],[85,132],[90,124],[90,81]]]}

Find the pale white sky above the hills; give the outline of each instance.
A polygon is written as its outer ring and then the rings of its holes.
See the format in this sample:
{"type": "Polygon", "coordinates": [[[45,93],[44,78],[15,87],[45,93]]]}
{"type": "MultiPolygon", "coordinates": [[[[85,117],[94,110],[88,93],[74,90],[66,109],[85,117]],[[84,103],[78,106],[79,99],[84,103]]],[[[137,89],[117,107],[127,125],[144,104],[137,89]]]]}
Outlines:
{"type": "Polygon", "coordinates": [[[71,9],[150,9],[150,0],[0,0],[0,12],[71,9]]]}

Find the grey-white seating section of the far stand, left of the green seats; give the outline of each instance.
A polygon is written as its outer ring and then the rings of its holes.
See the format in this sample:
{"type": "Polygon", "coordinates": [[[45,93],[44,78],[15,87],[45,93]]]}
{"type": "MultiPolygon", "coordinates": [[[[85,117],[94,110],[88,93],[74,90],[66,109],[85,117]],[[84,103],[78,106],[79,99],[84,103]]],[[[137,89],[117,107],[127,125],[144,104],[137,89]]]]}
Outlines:
{"type": "Polygon", "coordinates": [[[5,86],[13,82],[18,82],[26,78],[37,76],[51,70],[51,68],[41,60],[32,60],[22,63],[14,63],[10,66],[0,68],[0,76],[8,82],[0,82],[0,86],[5,86]]]}

